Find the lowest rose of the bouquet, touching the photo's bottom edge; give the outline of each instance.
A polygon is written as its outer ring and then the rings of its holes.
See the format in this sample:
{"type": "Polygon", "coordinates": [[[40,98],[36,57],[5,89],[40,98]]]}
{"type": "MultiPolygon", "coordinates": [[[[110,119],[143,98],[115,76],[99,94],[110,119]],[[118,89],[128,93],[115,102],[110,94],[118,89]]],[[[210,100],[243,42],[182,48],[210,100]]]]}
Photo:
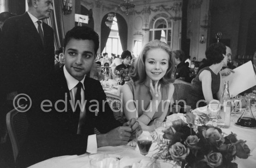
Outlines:
{"type": "Polygon", "coordinates": [[[219,152],[209,153],[207,156],[204,156],[204,161],[207,162],[209,167],[216,168],[222,164],[222,154],[219,152]]]}

